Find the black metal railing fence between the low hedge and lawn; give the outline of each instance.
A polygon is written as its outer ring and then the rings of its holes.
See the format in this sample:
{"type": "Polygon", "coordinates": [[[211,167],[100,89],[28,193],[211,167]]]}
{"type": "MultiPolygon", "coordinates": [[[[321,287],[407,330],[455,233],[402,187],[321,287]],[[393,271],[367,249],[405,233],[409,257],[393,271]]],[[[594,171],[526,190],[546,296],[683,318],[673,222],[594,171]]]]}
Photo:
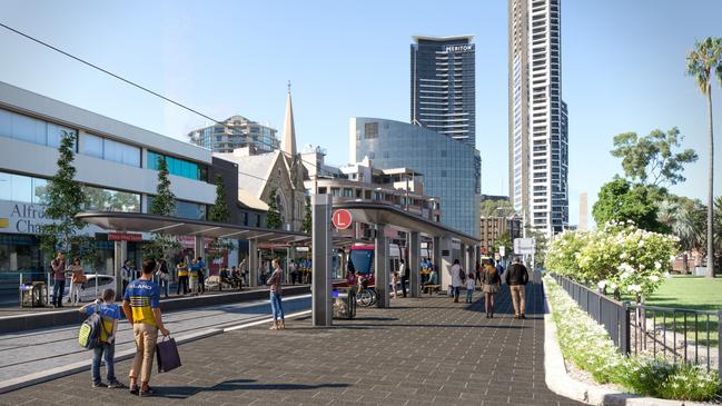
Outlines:
{"type": "Polygon", "coordinates": [[[563,276],[552,277],[590,317],[604,326],[622,354],[646,354],[674,364],[716,368],[722,376],[722,310],[619,301],[563,276]]]}

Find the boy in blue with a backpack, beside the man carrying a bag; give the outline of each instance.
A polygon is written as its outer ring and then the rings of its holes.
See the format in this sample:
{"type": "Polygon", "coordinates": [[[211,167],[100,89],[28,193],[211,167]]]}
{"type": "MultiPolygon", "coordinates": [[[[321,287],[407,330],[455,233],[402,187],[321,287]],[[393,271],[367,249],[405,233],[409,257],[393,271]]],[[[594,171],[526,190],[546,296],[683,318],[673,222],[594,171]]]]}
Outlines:
{"type": "Polygon", "coordinates": [[[123,384],[116,379],[115,354],[116,354],[116,333],[118,331],[118,320],[120,320],[120,306],[115,304],[116,291],[105,289],[100,299],[82,306],[79,310],[87,316],[98,313],[100,316],[100,337],[99,344],[92,349],[92,364],[90,376],[93,388],[122,388],[123,384]],[[100,362],[106,362],[107,384],[100,378],[100,362]]]}

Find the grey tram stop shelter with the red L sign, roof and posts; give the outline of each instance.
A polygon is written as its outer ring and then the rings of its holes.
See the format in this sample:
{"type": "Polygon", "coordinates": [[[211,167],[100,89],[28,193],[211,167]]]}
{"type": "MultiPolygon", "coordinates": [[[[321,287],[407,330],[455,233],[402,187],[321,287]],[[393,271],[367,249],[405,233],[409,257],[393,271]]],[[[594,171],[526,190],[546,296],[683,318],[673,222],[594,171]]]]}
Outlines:
{"type": "MultiPolygon", "coordinates": [[[[421,236],[433,238],[434,268],[439,274],[442,286],[451,285],[451,267],[458,259],[462,267],[473,269],[479,258],[478,238],[454,230],[439,222],[431,221],[421,216],[405,211],[396,206],[370,200],[333,202],[329,195],[313,196],[313,266],[314,276],[329,275],[332,248],[332,217],[336,210],[350,212],[352,221],[365,222],[374,231],[374,278],[376,280],[377,307],[389,306],[389,260],[388,238],[385,229],[393,227],[408,232],[409,290],[412,297],[421,297],[421,236]]],[[[330,278],[323,280],[314,277],[314,325],[330,326],[332,315],[324,306],[328,299],[324,295],[330,291],[330,278]],[[318,284],[318,285],[317,285],[318,284]],[[316,304],[318,300],[318,307],[316,304]]]]}

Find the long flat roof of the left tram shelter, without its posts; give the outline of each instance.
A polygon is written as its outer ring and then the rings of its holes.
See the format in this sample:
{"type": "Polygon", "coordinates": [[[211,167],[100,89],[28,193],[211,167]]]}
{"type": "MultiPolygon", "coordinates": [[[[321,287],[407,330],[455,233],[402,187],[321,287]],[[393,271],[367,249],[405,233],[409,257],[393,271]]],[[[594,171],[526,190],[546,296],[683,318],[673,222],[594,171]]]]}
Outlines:
{"type": "Polygon", "coordinates": [[[204,236],[215,238],[255,239],[259,242],[304,244],[310,242],[310,235],[270,228],[247,227],[226,222],[190,220],[179,217],[148,215],[141,212],[80,212],[76,218],[96,225],[105,230],[122,232],[162,232],[174,236],[204,236]]]}

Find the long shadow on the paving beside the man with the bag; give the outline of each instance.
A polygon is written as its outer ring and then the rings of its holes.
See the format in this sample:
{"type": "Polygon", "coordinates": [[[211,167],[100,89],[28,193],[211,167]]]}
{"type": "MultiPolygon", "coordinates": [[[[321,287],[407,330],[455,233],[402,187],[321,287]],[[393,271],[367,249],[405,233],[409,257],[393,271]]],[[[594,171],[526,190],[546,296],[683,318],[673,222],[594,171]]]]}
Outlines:
{"type": "Polygon", "coordinates": [[[309,390],[319,388],[344,388],[349,384],[258,384],[256,379],[230,379],[211,387],[201,386],[164,386],[156,387],[155,397],[169,399],[186,399],[201,392],[235,392],[235,390],[309,390]]]}

